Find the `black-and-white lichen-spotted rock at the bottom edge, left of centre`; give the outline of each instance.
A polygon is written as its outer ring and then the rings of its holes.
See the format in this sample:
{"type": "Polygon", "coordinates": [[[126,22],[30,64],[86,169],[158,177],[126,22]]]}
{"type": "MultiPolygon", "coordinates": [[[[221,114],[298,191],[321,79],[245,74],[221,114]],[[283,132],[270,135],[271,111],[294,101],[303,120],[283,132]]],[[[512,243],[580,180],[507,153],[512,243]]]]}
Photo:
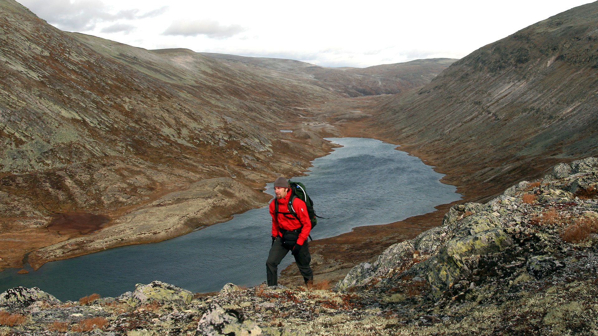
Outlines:
{"type": "Polygon", "coordinates": [[[210,304],[208,311],[197,323],[196,336],[216,335],[260,335],[262,330],[235,309],[224,309],[219,304],[210,304]]]}

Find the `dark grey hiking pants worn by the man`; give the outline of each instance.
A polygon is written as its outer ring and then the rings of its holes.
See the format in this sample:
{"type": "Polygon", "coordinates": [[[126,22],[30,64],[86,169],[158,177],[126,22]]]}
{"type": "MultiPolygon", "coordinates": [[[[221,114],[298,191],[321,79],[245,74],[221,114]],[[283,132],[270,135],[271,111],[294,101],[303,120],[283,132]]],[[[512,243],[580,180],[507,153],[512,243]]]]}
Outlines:
{"type": "MultiPolygon", "coordinates": [[[[266,261],[266,277],[268,279],[268,286],[276,286],[278,285],[278,265],[282,258],[285,257],[286,253],[289,253],[289,250],[282,246],[282,239],[280,237],[274,240],[272,247],[270,248],[270,254],[268,255],[268,260],[266,261]]],[[[307,283],[308,280],[313,279],[312,268],[309,267],[309,263],[312,261],[312,256],[309,254],[309,245],[307,244],[307,240],[301,245],[301,249],[299,250],[299,254],[295,255],[295,262],[297,262],[297,267],[301,275],[303,276],[303,280],[307,283]]]]}

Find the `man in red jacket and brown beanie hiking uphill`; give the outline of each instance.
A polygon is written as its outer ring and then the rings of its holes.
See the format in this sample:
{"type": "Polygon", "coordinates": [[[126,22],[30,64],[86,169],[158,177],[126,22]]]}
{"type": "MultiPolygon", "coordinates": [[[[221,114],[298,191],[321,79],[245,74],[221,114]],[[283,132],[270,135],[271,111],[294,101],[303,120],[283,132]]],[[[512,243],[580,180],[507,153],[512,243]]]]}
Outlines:
{"type": "Polygon", "coordinates": [[[270,215],[272,216],[272,247],[266,261],[266,276],[268,286],[278,285],[278,265],[286,253],[291,251],[297,262],[297,267],[308,288],[313,284],[312,268],[309,266],[312,256],[309,254],[307,237],[312,230],[312,222],[307,213],[307,206],[303,200],[293,197],[291,188],[282,176],[274,181],[276,198],[270,202],[270,215]]]}

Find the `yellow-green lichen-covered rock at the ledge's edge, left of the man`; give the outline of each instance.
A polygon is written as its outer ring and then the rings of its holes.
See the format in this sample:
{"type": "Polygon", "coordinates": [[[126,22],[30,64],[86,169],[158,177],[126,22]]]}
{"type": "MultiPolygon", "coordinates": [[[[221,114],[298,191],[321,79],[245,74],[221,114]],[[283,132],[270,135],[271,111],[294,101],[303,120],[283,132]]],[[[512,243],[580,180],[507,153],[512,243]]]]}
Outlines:
{"type": "Polygon", "coordinates": [[[193,293],[169,283],[153,281],[148,285],[142,285],[141,283],[135,285],[135,291],[133,291],[131,298],[139,300],[141,303],[158,301],[188,304],[193,300],[193,293]]]}

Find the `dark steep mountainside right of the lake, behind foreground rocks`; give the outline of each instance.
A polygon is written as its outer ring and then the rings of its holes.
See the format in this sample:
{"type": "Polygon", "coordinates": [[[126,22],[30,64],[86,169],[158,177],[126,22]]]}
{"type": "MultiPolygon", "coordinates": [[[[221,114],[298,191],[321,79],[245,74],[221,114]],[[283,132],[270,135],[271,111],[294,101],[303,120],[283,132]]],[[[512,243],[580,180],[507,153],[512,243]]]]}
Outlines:
{"type": "Polygon", "coordinates": [[[364,132],[400,143],[470,197],[598,154],[598,2],[454,62],[417,90],[376,100],[364,132]]]}

